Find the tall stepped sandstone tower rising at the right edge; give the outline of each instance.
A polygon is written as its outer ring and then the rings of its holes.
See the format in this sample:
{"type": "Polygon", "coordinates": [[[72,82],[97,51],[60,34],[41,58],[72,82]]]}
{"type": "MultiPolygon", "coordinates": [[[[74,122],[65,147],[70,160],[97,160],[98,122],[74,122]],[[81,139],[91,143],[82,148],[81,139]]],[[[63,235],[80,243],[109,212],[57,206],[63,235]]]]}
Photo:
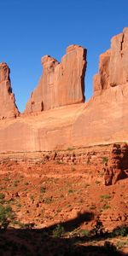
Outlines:
{"type": "Polygon", "coordinates": [[[99,73],[94,77],[94,93],[128,83],[128,27],[112,38],[111,49],[100,55],[99,73]]]}

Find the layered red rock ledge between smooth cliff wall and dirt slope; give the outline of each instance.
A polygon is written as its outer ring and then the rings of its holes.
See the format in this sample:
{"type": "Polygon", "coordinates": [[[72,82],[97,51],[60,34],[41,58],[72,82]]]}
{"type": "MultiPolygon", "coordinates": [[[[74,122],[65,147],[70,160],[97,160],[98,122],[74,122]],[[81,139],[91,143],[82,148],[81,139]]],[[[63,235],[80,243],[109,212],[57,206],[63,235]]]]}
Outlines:
{"type": "Polygon", "coordinates": [[[21,163],[25,166],[73,166],[88,173],[90,182],[111,185],[128,177],[128,145],[114,143],[61,151],[0,154],[1,165],[21,163]]]}

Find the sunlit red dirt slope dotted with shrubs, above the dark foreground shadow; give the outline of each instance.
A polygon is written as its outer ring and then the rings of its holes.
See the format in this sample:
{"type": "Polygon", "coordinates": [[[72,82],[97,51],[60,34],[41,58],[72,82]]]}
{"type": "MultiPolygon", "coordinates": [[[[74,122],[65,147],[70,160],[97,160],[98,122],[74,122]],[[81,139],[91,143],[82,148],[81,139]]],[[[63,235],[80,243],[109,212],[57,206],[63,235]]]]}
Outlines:
{"type": "MultiPolygon", "coordinates": [[[[102,166],[103,163],[101,166],[94,166],[91,163],[63,164],[59,160],[9,160],[6,155],[0,165],[0,191],[5,195],[5,205],[11,206],[15,212],[15,221],[10,224],[12,229],[18,231],[20,228],[28,227],[25,224],[33,224],[32,230],[47,230],[51,227],[55,228],[55,224],[61,224],[66,228],[64,236],[73,238],[79,236],[80,230],[92,230],[97,218],[102,221],[105,231],[109,232],[118,226],[127,225],[128,178],[119,180],[111,186],[105,186],[99,174],[102,166]]],[[[11,233],[11,230],[9,232],[11,233]]],[[[2,235],[4,239],[5,235],[6,232],[2,235]]],[[[35,236],[31,237],[32,241],[35,236]]],[[[15,242],[20,241],[26,246],[26,242],[20,240],[17,233],[13,234],[13,237],[15,242]]],[[[117,245],[120,237],[113,238],[112,241],[117,245]]],[[[78,241],[78,244],[80,242],[78,241]]],[[[104,240],[84,241],[83,245],[101,246],[103,242],[104,240]]],[[[47,241],[48,247],[49,244],[50,239],[47,241]]],[[[42,246],[44,255],[65,255],[54,254],[52,251],[54,249],[46,252],[44,245],[42,246]]],[[[32,245],[28,244],[27,249],[31,251],[31,248],[32,245]]],[[[124,253],[128,253],[128,247],[122,246],[121,249],[124,253]]],[[[11,254],[7,253],[7,255],[11,254]]],[[[41,254],[34,254],[33,251],[32,255],[41,254]]],[[[84,255],[93,255],[93,253],[84,255]]]]}

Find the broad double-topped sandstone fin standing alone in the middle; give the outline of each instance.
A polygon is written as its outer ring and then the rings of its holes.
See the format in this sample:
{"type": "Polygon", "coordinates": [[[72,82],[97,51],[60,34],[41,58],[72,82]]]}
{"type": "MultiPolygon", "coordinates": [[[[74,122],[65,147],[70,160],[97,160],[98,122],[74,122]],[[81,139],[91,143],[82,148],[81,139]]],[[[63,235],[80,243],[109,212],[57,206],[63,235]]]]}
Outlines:
{"type": "Polygon", "coordinates": [[[84,102],[86,49],[71,45],[61,63],[49,55],[42,57],[41,62],[44,72],[26,104],[25,113],[84,102]]]}

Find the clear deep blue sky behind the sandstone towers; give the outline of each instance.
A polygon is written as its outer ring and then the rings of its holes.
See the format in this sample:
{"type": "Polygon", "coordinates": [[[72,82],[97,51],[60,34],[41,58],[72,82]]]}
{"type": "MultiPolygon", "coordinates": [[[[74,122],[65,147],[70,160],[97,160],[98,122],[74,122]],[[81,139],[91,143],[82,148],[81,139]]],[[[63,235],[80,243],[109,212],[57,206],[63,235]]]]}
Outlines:
{"type": "Polygon", "coordinates": [[[88,49],[85,96],[99,55],[128,26],[128,0],[0,0],[0,62],[7,62],[16,103],[25,108],[42,73],[41,57],[58,61],[70,44],[88,49]]]}

